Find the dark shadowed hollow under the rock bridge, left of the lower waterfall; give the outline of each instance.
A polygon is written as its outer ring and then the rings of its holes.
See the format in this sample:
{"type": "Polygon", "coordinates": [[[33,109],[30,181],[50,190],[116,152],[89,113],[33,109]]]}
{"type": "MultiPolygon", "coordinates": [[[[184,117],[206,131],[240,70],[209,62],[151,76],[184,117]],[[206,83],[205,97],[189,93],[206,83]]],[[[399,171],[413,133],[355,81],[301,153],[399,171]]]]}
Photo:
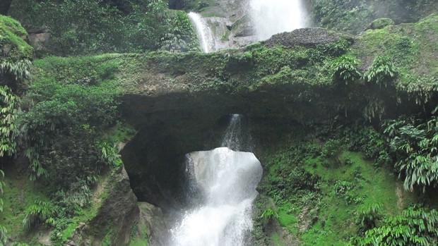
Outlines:
{"type": "MultiPolygon", "coordinates": [[[[175,111],[149,117],[120,153],[138,201],[164,211],[180,210],[193,202],[187,195],[187,154],[220,147],[232,116],[175,111]]],[[[246,120],[241,118],[239,123],[246,120]]],[[[250,140],[244,137],[247,133],[239,132],[242,142],[250,140]]],[[[250,152],[251,144],[233,150],[250,152]]]]}

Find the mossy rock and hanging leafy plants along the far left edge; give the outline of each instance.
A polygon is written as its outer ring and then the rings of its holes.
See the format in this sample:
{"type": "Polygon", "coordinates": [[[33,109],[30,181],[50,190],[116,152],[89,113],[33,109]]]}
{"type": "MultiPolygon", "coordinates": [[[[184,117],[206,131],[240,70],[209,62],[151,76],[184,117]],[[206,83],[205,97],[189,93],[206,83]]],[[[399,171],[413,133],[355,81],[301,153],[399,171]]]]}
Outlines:
{"type": "MultiPolygon", "coordinates": [[[[23,80],[30,75],[32,47],[24,40],[27,33],[20,23],[12,18],[0,16],[0,164],[9,166],[8,161],[18,150],[19,135],[16,123],[19,109],[20,88],[23,80]],[[6,164],[6,165],[5,165],[6,164]]],[[[0,170],[1,178],[4,171],[0,170]]],[[[0,180],[0,195],[4,195],[5,183],[0,180]]],[[[0,198],[0,211],[4,211],[4,202],[0,198]]],[[[0,224],[0,245],[8,238],[8,231],[0,224]]]]}

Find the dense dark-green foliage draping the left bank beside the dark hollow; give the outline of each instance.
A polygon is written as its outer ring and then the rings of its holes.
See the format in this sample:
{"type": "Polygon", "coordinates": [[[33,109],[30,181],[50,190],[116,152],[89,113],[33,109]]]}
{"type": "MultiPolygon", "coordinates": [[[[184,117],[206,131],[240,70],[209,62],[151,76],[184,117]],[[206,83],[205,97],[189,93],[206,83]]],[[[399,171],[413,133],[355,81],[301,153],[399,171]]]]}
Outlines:
{"type": "Polygon", "coordinates": [[[30,180],[45,184],[49,194],[49,199],[37,199],[26,209],[23,226],[50,226],[56,242],[66,240],[70,234],[64,230],[74,226],[73,216],[90,205],[100,176],[121,164],[117,147],[104,136],[118,119],[113,81],[117,63],[96,59],[102,58],[40,61],[42,69],[34,73],[45,77],[28,85],[16,115],[30,180]]]}

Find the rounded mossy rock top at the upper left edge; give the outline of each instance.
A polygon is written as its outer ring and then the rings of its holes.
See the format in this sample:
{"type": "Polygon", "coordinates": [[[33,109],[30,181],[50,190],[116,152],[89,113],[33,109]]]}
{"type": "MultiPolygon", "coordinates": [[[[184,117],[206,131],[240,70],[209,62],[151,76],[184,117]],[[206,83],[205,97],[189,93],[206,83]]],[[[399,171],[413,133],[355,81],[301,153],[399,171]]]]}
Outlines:
{"type": "Polygon", "coordinates": [[[0,62],[31,59],[33,48],[25,42],[27,36],[28,33],[17,20],[0,15],[0,62]]]}

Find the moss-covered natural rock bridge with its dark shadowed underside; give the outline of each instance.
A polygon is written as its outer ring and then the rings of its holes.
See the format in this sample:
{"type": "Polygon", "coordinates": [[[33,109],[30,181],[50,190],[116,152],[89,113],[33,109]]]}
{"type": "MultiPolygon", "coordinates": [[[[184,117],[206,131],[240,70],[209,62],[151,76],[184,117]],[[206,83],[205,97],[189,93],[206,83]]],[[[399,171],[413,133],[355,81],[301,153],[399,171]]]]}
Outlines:
{"type": "Polygon", "coordinates": [[[427,57],[437,53],[436,28],[434,15],[357,37],[304,29],[211,54],[94,56],[90,68],[73,58],[42,60],[45,72],[35,78],[55,67],[57,78],[66,80],[63,74],[71,68],[78,68],[79,76],[84,69],[108,69],[102,73],[118,88],[123,117],[138,130],[122,150],[134,192],[143,201],[174,208],[184,203],[179,196],[184,154],[215,147],[229,113],[244,114],[264,135],[266,125],[324,124],[338,115],[378,121],[430,107],[437,81],[434,59],[427,57]],[[378,56],[392,58],[384,66],[393,66],[393,75],[373,66],[378,56]],[[379,75],[384,81],[375,81],[379,75]]]}

